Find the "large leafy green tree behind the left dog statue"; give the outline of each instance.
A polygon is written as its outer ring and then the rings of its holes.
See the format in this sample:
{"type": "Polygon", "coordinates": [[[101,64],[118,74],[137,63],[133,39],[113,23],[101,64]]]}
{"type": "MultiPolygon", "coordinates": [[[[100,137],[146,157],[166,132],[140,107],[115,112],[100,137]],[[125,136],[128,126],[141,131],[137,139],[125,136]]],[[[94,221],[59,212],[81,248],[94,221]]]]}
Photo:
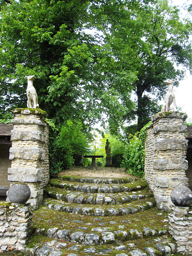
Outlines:
{"type": "MultiPolygon", "coordinates": [[[[104,113],[114,126],[120,124],[127,109],[119,102],[113,81],[125,72],[116,70],[114,53],[101,43],[102,36],[84,32],[92,22],[93,2],[20,0],[2,6],[2,109],[26,106],[24,76],[34,74],[40,108],[56,124],[71,119],[93,125],[104,113]]],[[[134,73],[127,72],[124,80],[133,79],[134,73]]]]}

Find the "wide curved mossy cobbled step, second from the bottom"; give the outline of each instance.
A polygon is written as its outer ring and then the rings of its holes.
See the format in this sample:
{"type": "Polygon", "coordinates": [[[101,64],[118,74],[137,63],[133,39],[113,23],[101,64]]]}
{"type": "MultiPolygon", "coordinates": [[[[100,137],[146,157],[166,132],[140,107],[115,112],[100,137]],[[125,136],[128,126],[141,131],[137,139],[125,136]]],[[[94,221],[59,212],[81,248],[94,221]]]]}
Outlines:
{"type": "Polygon", "coordinates": [[[68,229],[59,230],[59,228],[50,228],[47,231],[48,238],[56,238],[71,243],[80,243],[85,245],[111,244],[114,242],[131,241],[149,236],[162,236],[167,234],[168,230],[143,228],[142,231],[137,229],[111,231],[110,227],[92,228],[90,233],[84,231],[71,231],[68,229]]]}

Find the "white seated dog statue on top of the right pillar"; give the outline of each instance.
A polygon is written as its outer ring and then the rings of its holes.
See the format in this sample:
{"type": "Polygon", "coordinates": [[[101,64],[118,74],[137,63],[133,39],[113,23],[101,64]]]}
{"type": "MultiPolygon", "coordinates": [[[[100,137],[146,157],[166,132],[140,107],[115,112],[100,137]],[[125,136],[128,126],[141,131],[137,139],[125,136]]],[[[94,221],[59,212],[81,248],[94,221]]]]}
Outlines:
{"type": "Polygon", "coordinates": [[[164,84],[168,84],[169,88],[165,97],[165,103],[162,107],[161,112],[165,112],[165,111],[171,111],[171,112],[177,112],[176,110],[176,102],[175,102],[175,94],[174,94],[174,90],[173,90],[173,82],[176,82],[175,79],[168,79],[163,81],[164,84]],[[170,106],[173,102],[173,106],[174,108],[170,109],[170,106]]]}

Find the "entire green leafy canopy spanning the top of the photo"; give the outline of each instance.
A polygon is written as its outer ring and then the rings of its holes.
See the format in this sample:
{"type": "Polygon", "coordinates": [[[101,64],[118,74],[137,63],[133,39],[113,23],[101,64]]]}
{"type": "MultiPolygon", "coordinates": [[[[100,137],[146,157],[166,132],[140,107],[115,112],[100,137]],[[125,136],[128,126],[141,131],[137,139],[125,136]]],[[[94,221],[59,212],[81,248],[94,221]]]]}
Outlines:
{"type": "Polygon", "coordinates": [[[182,79],[174,63],[191,69],[192,25],[167,0],[11,2],[0,10],[0,118],[26,107],[24,76],[34,74],[40,108],[56,124],[88,130],[107,119],[116,132],[138,116],[140,129],[159,110],[162,81],[182,79]]]}

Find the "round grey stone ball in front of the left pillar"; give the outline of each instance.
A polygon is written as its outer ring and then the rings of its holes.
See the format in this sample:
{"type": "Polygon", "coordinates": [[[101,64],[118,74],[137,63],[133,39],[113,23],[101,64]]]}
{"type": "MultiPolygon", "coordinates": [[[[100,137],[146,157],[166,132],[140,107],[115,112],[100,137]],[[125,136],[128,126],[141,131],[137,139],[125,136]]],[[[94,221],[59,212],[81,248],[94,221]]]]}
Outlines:
{"type": "Polygon", "coordinates": [[[30,198],[30,188],[22,182],[14,183],[8,191],[8,198],[14,204],[25,204],[30,198]]]}

